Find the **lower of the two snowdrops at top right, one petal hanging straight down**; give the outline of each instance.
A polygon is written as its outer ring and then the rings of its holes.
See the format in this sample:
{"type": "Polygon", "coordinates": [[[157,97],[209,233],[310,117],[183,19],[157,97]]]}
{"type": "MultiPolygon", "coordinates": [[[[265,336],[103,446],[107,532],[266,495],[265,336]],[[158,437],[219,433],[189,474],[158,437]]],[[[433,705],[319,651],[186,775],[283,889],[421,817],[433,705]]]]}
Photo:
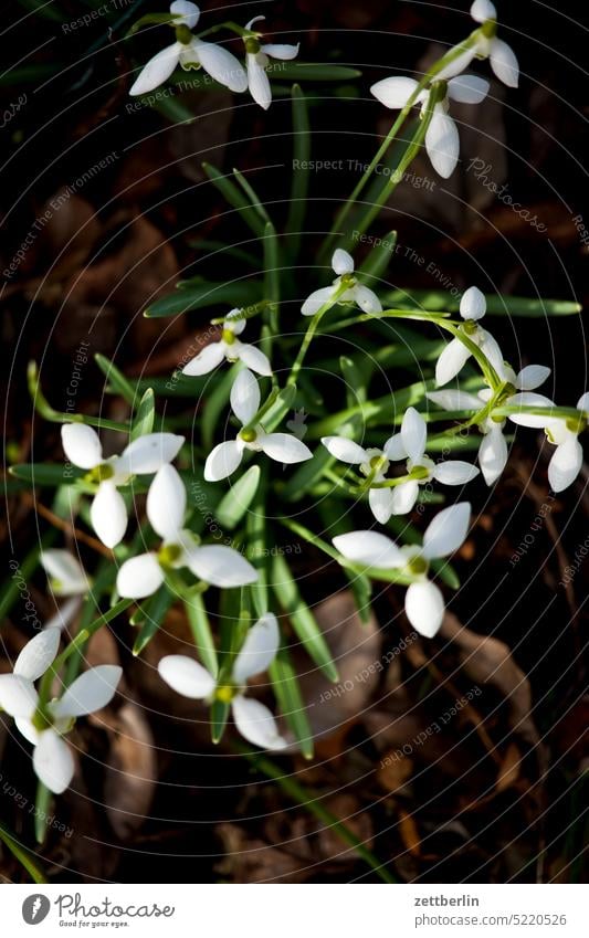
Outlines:
{"type": "MultiPolygon", "coordinates": [[[[402,108],[416,92],[418,82],[403,76],[383,78],[370,88],[378,101],[393,109],[402,108]]],[[[433,106],[433,115],[425,131],[425,150],[435,171],[443,178],[452,176],[460,154],[457,127],[450,116],[451,101],[462,104],[480,104],[488,92],[488,82],[477,75],[457,75],[448,82],[446,94],[433,106]]],[[[421,118],[428,109],[433,89],[424,89],[416,97],[421,104],[421,118]]],[[[437,92],[435,92],[437,93],[437,92]]]]}

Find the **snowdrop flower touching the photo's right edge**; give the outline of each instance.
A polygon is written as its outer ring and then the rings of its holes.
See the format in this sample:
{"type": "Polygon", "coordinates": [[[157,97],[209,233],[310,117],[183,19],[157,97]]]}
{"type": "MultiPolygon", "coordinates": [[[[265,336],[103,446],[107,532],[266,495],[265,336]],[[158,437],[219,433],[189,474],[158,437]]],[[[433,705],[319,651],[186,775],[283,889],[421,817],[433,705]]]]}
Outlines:
{"type": "MultiPolygon", "coordinates": [[[[518,397],[523,397],[519,394],[518,397]]],[[[539,396],[537,396],[539,397],[539,396]]],[[[512,399],[513,400],[513,399],[512,399]]],[[[551,401],[536,402],[536,407],[554,407],[551,401]]],[[[587,430],[587,415],[589,411],[589,391],[581,394],[577,401],[579,411],[578,420],[565,420],[562,418],[550,418],[532,413],[512,414],[509,420],[523,426],[539,426],[547,436],[549,443],[556,450],[548,463],[548,482],[553,492],[564,492],[572,485],[582,466],[582,446],[578,436],[587,430]]]]}

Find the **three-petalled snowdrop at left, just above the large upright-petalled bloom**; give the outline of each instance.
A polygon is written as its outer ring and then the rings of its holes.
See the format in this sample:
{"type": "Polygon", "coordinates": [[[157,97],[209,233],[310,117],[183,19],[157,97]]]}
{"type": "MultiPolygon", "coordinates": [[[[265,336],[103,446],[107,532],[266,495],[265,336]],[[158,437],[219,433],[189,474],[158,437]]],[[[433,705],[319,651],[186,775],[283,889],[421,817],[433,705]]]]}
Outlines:
{"type": "Polygon", "coordinates": [[[127,507],[117,491],[132,475],[151,475],[171,462],[185,442],[173,433],[146,433],[125,447],[119,456],[105,460],[98,434],[85,423],[64,423],[62,444],[75,466],[87,470],[87,482],[98,489],[91,507],[92,526],[106,547],[116,547],[127,530],[127,507]]]}

